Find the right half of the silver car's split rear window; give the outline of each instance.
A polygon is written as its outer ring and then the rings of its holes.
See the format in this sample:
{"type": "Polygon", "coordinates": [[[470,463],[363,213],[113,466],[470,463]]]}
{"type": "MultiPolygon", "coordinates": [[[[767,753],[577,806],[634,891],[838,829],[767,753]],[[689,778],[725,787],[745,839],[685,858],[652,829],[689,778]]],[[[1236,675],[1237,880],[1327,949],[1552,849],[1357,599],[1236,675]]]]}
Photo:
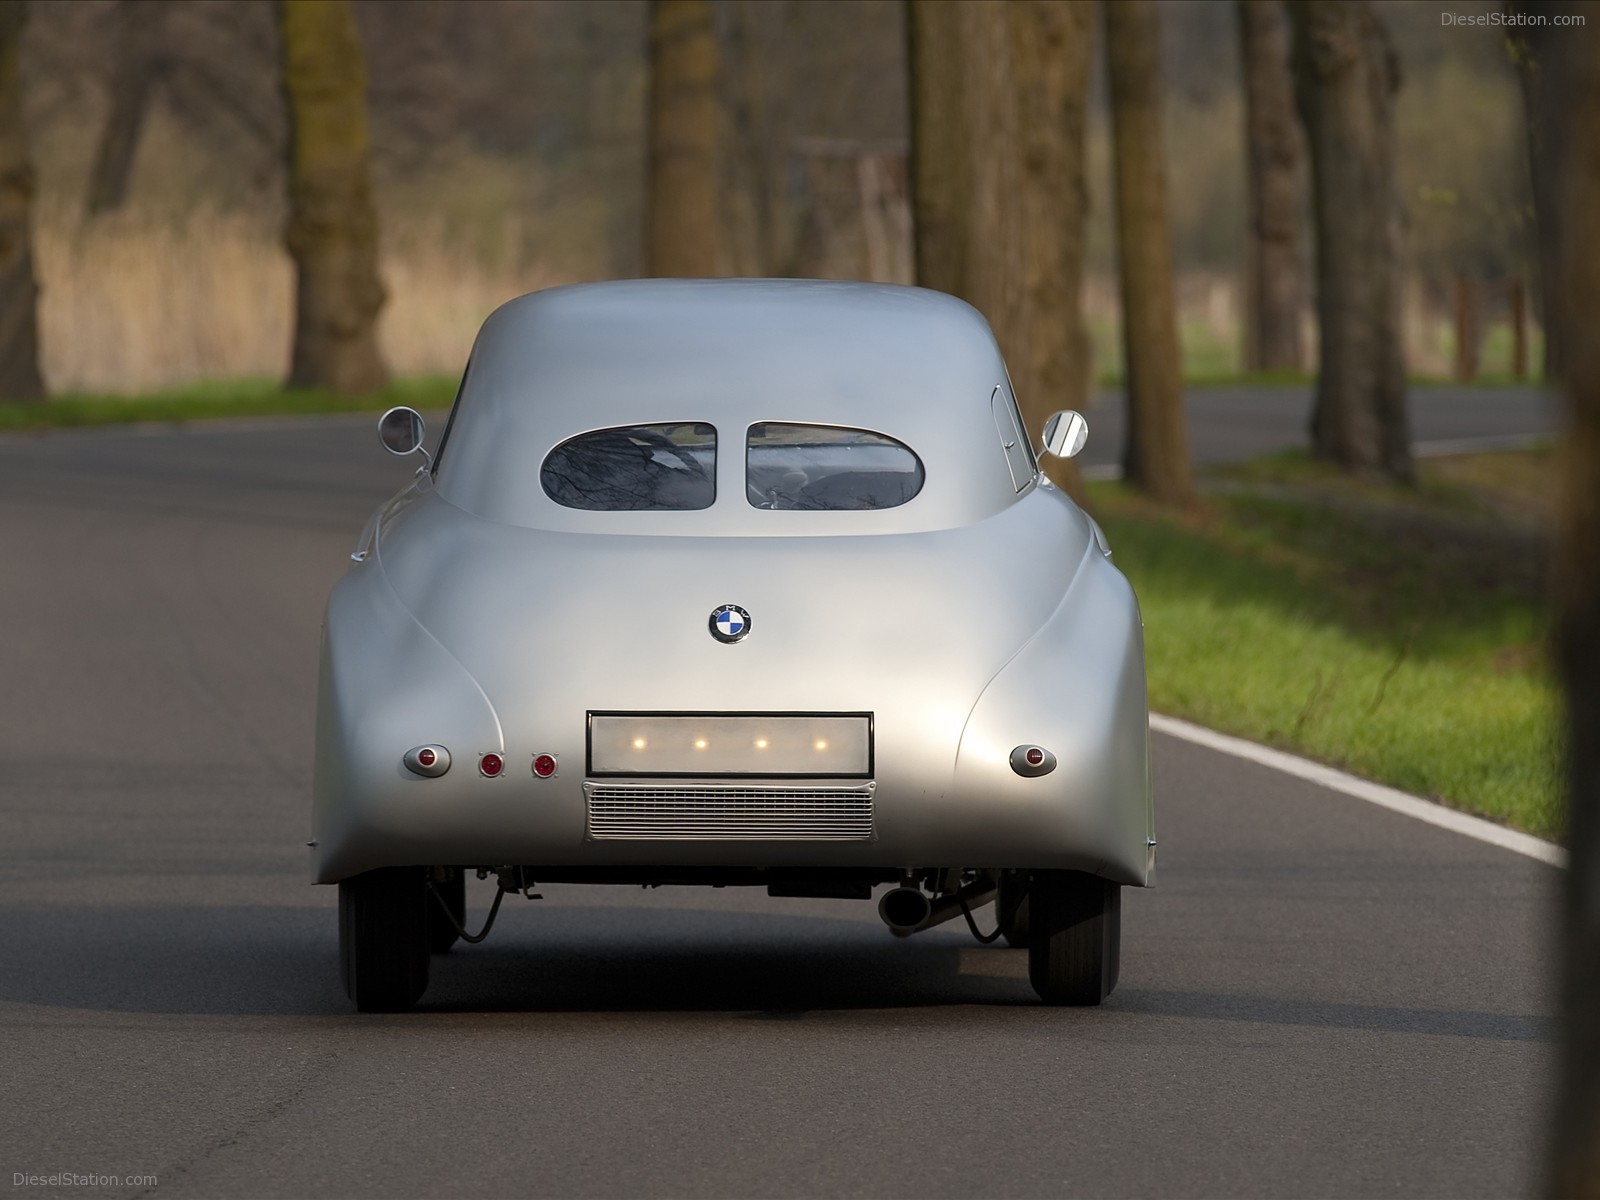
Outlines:
{"type": "Polygon", "coordinates": [[[883,434],[766,421],[750,426],[744,486],[757,509],[893,509],[922,491],[922,459],[883,434]]]}

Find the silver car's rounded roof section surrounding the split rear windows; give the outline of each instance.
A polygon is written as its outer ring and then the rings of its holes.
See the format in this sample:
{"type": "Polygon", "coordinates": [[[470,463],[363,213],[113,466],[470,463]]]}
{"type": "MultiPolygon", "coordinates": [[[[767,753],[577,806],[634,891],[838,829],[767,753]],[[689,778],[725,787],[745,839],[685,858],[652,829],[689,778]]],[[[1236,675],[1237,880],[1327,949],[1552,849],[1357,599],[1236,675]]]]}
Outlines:
{"type": "Polygon", "coordinates": [[[1010,392],[987,322],[925,288],[827,280],[624,280],[520,296],[483,323],[440,459],[450,502],[512,525],[618,533],[803,533],[965,525],[1016,499],[990,411],[1010,392]],[[611,426],[706,421],[718,501],[578,512],[539,464],[611,426]],[[870,429],[922,458],[922,493],[880,512],[774,514],[744,501],[760,421],[870,429]],[[731,493],[731,494],[730,494],[731,493]],[[803,517],[803,523],[787,518],[803,517]],[[774,520],[776,518],[776,520],[774,520]]]}

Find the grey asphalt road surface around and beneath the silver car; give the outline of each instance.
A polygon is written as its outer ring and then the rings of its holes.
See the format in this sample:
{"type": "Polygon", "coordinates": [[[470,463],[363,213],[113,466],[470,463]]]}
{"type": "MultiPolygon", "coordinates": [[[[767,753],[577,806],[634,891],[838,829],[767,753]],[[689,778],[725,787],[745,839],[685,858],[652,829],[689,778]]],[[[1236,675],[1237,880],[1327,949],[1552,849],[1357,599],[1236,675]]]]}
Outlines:
{"type": "Polygon", "coordinates": [[[302,842],[370,424],[0,440],[0,1174],[157,1179],[14,1194],[1533,1190],[1555,872],[1160,736],[1099,1010],[869,904],[554,886],[352,1014],[302,842]]]}

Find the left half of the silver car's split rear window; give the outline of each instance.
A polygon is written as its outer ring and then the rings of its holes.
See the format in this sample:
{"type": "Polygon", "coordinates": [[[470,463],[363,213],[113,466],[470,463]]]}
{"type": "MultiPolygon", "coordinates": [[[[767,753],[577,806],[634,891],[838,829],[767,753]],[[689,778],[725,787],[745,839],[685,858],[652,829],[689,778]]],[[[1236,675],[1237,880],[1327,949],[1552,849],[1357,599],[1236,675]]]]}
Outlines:
{"type": "Polygon", "coordinates": [[[709,509],[717,499],[717,430],[694,421],[579,434],[546,456],[539,482],[568,509],[709,509]]]}

